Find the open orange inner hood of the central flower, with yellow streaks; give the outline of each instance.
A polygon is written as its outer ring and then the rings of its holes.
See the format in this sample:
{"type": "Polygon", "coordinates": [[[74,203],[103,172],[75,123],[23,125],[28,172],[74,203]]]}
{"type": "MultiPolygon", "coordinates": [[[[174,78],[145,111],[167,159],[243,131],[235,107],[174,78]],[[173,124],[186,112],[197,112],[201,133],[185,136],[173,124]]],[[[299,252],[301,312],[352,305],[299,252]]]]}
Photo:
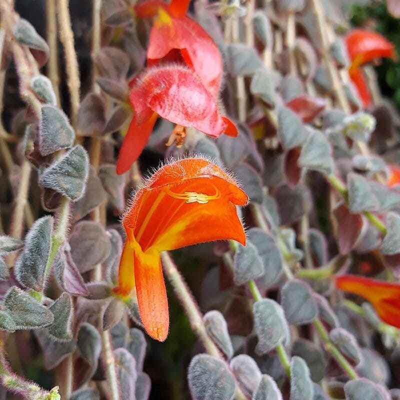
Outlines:
{"type": "Polygon", "coordinates": [[[223,239],[245,244],[244,229],[230,195],[247,196],[237,187],[232,193],[231,187],[219,177],[200,177],[144,193],[134,230],[143,251],[150,247],[172,250],[223,239]],[[185,193],[210,199],[206,203],[187,202],[185,193]]]}

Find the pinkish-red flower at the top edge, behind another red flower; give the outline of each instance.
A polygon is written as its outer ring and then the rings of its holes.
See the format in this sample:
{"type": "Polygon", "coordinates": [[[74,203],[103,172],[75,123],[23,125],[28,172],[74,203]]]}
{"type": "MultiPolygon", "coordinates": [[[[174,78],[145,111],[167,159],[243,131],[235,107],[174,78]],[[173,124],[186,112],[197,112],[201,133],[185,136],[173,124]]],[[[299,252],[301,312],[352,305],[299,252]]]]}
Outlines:
{"type": "Polygon", "coordinates": [[[145,0],[135,5],[136,15],[141,18],[158,14],[150,32],[147,65],[182,60],[217,98],[222,80],[222,57],[208,33],[185,15],[188,5],[188,0],[172,0],[169,5],[145,0]]]}

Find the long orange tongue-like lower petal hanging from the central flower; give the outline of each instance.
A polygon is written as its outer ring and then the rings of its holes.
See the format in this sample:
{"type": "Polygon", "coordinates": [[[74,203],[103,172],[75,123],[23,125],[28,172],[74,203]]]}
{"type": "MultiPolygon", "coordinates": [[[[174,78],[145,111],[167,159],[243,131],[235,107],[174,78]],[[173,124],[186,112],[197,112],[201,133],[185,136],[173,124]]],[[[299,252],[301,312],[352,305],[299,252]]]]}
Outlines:
{"type": "Polygon", "coordinates": [[[144,329],[153,339],[164,341],[168,334],[169,313],[159,253],[142,252],[135,246],[134,263],[137,303],[144,329]]]}

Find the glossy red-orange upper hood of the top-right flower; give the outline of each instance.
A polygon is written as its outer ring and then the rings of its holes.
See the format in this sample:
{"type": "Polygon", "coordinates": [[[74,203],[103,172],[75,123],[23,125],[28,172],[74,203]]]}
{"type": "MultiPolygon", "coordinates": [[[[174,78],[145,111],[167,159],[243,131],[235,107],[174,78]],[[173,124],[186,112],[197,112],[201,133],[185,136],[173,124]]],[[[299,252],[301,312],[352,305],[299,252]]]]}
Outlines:
{"type": "Polygon", "coordinates": [[[394,44],[373,30],[353,29],[344,38],[353,67],[379,57],[394,57],[394,44]]]}

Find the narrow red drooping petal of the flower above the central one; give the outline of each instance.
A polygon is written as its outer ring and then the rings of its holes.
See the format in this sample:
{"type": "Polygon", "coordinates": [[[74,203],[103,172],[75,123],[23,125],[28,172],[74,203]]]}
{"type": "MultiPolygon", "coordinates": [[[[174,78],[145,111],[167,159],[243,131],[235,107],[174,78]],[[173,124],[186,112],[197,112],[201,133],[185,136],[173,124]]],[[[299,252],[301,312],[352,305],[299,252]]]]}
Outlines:
{"type": "Polygon", "coordinates": [[[119,150],[118,161],[116,163],[117,174],[126,172],[139,157],[147,143],[148,136],[153,129],[156,119],[157,114],[155,112],[141,125],[137,124],[136,116],[132,118],[119,150]]]}

